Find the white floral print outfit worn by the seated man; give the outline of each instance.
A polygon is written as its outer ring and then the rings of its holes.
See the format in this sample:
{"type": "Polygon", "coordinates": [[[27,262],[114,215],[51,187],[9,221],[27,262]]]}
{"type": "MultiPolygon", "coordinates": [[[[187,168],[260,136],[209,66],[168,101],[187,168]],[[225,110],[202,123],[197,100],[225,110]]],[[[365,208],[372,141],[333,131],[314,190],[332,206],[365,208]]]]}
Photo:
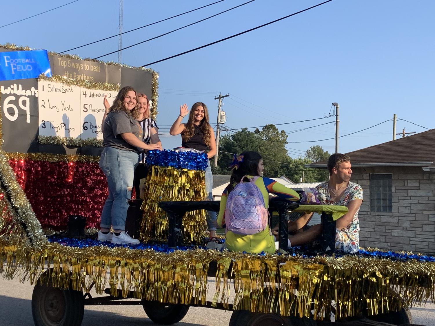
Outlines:
{"type": "MultiPolygon", "coordinates": [[[[328,181],[319,184],[316,187],[318,192],[318,199],[322,205],[340,205],[348,206],[351,200],[362,200],[362,188],[359,184],[349,182],[348,187],[345,189],[343,195],[338,202],[332,200],[328,190],[328,181]]],[[[356,211],[352,222],[347,228],[343,230],[336,229],[335,232],[335,249],[341,250],[346,253],[356,253],[359,249],[359,220],[358,211],[356,211]]]]}

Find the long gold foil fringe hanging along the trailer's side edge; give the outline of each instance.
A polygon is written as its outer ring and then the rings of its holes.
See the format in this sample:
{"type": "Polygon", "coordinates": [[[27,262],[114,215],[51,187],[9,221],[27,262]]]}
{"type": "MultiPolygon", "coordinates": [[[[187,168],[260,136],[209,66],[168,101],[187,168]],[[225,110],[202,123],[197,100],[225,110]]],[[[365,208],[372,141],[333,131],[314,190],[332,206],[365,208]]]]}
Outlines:
{"type": "MultiPolygon", "coordinates": [[[[234,308],[280,311],[284,316],[322,319],[336,305],[336,318],[396,311],[434,301],[434,263],[399,262],[358,256],[286,257],[202,249],[158,253],[127,248],[71,248],[49,243],[38,251],[0,244],[0,273],[34,284],[50,274],[55,286],[166,303],[205,303],[209,263],[216,262],[213,305],[228,305],[232,262],[234,308]],[[53,266],[50,268],[50,266],[53,266]],[[108,274],[108,276],[106,276],[108,274]]],[[[213,288],[208,289],[213,290],[213,288]]]]}

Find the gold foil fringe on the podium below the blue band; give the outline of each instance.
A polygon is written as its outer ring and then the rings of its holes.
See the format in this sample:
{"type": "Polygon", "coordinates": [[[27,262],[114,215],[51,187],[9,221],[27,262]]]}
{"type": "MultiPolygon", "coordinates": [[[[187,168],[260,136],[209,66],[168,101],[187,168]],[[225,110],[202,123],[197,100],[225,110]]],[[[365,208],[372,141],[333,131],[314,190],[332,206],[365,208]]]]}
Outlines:
{"type": "MultiPolygon", "coordinates": [[[[172,167],[151,166],[144,183],[144,202],[141,210],[141,239],[166,239],[167,215],[157,203],[173,200],[204,200],[205,176],[200,170],[179,170],[172,167]]],[[[183,217],[184,240],[197,243],[207,231],[205,211],[187,212],[183,217]]]]}

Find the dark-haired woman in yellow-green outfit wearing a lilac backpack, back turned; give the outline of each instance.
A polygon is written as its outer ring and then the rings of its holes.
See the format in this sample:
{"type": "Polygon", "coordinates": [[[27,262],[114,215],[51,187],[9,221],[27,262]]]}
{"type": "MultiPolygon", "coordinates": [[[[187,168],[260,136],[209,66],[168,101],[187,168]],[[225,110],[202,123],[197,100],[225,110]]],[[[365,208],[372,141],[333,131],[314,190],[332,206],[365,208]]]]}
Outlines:
{"type": "Polygon", "coordinates": [[[290,201],[298,201],[298,193],[263,178],[263,160],[257,152],[234,155],[231,167],[233,173],[222,193],[218,215],[218,225],[226,229],[228,250],[275,253],[275,239],[268,226],[269,193],[290,201]]]}

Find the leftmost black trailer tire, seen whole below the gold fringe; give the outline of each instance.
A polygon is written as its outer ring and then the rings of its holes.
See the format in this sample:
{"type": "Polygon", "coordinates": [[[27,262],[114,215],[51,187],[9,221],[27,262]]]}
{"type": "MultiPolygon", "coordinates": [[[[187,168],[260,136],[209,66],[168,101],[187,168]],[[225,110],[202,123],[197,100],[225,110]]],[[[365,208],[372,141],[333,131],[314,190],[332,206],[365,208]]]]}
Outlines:
{"type": "Polygon", "coordinates": [[[73,289],[52,286],[51,280],[38,280],[33,288],[32,316],[36,326],[80,326],[84,313],[84,295],[73,289]]]}

